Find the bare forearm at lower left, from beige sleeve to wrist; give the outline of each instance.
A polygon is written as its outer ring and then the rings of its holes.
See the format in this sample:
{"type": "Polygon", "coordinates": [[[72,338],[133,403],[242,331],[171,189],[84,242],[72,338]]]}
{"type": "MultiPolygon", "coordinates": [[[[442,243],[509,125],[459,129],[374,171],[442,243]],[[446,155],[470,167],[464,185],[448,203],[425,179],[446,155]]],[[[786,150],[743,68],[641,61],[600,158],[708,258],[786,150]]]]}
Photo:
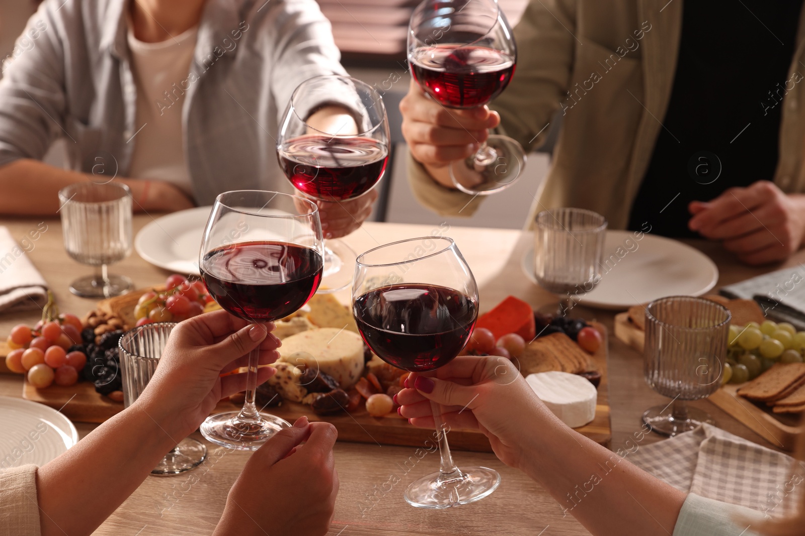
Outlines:
{"type": "Polygon", "coordinates": [[[43,536],[91,534],[187,433],[134,404],[43,465],[36,477],[43,536]]]}

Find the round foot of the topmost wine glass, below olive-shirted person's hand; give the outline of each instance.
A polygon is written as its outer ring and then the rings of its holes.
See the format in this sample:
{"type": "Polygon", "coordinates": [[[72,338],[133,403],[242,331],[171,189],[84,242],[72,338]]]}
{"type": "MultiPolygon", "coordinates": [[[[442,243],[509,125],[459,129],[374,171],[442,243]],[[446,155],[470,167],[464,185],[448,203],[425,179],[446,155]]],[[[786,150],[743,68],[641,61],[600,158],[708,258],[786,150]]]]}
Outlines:
{"type": "Polygon", "coordinates": [[[493,134],[486,140],[486,147],[491,149],[486,158],[473,154],[450,165],[453,184],[465,194],[489,195],[506,190],[517,181],[526,165],[525,151],[510,137],[493,134]]]}

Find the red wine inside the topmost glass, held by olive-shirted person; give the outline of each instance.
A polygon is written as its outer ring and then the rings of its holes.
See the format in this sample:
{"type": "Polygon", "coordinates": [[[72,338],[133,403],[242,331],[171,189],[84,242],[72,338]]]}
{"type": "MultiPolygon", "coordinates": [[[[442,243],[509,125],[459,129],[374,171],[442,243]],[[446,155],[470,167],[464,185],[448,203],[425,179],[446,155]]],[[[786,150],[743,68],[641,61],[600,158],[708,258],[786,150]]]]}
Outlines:
{"type": "Polygon", "coordinates": [[[509,85],[514,58],[484,47],[419,47],[411,57],[419,85],[450,108],[477,108],[509,85]]]}

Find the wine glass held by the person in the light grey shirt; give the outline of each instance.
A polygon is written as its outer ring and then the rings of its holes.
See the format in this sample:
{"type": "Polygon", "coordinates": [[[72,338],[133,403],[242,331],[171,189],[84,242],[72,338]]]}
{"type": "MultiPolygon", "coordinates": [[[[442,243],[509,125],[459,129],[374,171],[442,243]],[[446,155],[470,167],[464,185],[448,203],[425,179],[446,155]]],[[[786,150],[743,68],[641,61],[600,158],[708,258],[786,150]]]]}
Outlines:
{"type": "MultiPolygon", "coordinates": [[[[389,161],[389,125],[380,94],[349,76],[305,80],[285,109],[277,158],[291,184],[308,198],[341,203],[371,190],[389,161]],[[312,121],[325,106],[336,106],[353,121],[312,121]],[[314,124],[312,124],[314,123],[314,124]]],[[[320,293],[352,283],[355,252],[338,239],[324,244],[320,293]]]]}

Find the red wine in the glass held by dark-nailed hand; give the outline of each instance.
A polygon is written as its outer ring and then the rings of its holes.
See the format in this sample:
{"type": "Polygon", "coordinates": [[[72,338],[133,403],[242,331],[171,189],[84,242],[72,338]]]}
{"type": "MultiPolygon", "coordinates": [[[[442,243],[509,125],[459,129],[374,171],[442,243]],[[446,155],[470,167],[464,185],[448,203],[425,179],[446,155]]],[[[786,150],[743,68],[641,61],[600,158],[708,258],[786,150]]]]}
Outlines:
{"type": "Polygon", "coordinates": [[[361,337],[385,362],[411,371],[439,368],[473,333],[477,304],[452,288],[393,284],[357,298],[361,337]]]}

